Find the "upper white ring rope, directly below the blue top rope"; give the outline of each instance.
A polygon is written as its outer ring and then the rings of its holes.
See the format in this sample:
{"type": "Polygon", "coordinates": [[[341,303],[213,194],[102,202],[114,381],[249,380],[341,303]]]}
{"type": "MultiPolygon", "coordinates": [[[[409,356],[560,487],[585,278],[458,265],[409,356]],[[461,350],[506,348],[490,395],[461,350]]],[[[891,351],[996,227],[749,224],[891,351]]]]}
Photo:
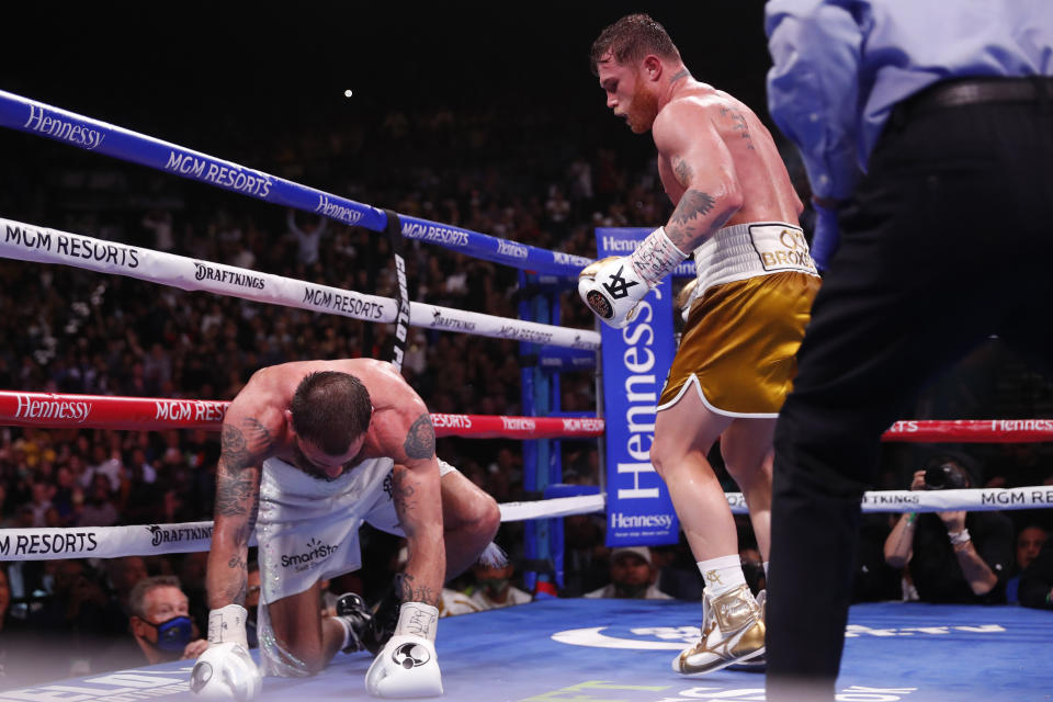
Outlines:
{"type": "MultiPolygon", "coordinates": [[[[57,263],[136,278],[186,291],[206,291],[271,305],[342,315],[373,322],[394,322],[398,303],[328,285],[260,273],[250,269],[197,261],[79,234],[47,229],[0,217],[0,256],[20,261],[57,263]]],[[[600,348],[590,329],[566,329],[521,319],[410,303],[410,325],[483,337],[545,343],[571,349],[600,348]]]]}

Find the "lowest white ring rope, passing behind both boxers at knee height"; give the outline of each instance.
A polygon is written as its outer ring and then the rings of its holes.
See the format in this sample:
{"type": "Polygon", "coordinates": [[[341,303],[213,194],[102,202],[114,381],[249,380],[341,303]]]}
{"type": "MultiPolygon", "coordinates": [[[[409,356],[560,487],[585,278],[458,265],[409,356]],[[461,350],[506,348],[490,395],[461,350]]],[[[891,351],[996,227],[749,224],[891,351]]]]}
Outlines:
{"type": "MultiPolygon", "coordinates": [[[[741,492],[727,492],[736,514],[746,513],[741,492]]],[[[533,502],[500,505],[501,521],[550,519],[602,512],[604,495],[558,497],[533,502]]],[[[1053,507],[1053,486],[1011,489],[886,490],[865,492],[863,512],[992,511],[1053,507]]],[[[212,522],[144,524],[138,526],[72,526],[67,529],[0,530],[0,561],[52,561],[56,558],[118,558],[167,553],[208,551],[212,522]]],[[[256,545],[256,536],[249,542],[256,545]]]]}

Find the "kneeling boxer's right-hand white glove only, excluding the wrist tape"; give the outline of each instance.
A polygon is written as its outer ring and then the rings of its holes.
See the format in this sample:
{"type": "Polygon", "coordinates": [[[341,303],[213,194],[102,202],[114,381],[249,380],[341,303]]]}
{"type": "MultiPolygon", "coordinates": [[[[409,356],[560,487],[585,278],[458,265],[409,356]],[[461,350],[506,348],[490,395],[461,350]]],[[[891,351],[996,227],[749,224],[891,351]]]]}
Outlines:
{"type": "Polygon", "coordinates": [[[442,694],[435,646],[412,634],[392,636],[365,673],[365,689],[377,698],[434,698],[442,694]]]}

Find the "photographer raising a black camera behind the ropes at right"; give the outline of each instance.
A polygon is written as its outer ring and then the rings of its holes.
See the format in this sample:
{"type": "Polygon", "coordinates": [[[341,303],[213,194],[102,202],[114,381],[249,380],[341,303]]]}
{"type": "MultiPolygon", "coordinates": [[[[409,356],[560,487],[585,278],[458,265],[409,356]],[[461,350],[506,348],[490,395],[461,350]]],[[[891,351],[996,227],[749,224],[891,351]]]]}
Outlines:
{"type": "MultiPolygon", "coordinates": [[[[973,485],[960,463],[940,457],[914,474],[910,489],[973,485]]],[[[1012,565],[1012,522],[1000,512],[909,512],[885,540],[885,562],[909,569],[922,602],[1003,603],[1012,565]]]]}

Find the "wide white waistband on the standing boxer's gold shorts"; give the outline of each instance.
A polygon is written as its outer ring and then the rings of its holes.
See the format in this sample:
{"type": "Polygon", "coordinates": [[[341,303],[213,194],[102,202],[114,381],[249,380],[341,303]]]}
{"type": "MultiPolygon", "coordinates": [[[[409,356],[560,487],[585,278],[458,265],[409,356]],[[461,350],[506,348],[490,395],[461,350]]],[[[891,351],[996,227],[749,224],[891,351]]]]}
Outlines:
{"type": "Polygon", "coordinates": [[[714,285],[758,275],[785,271],[818,275],[804,230],[782,222],[724,227],[694,250],[694,267],[695,296],[714,285]]]}

